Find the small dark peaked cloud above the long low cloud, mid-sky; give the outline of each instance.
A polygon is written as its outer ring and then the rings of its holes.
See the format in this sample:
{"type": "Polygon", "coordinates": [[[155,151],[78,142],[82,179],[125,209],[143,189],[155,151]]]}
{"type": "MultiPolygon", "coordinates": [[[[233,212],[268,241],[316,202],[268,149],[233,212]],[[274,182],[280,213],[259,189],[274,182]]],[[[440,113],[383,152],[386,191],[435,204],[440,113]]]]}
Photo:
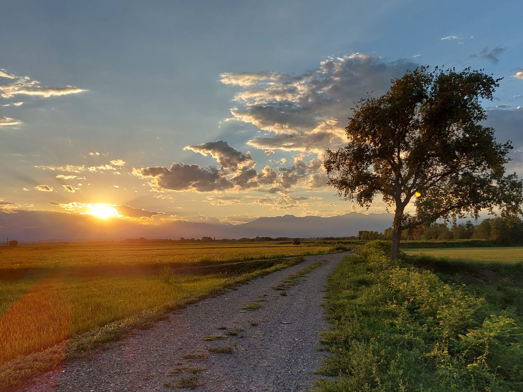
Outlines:
{"type": "Polygon", "coordinates": [[[210,154],[224,170],[236,170],[238,167],[253,167],[255,162],[251,158],[251,153],[243,154],[236,148],[230,147],[227,142],[219,140],[217,142],[207,142],[194,146],[186,146],[184,150],[194,151],[203,156],[210,154]]]}

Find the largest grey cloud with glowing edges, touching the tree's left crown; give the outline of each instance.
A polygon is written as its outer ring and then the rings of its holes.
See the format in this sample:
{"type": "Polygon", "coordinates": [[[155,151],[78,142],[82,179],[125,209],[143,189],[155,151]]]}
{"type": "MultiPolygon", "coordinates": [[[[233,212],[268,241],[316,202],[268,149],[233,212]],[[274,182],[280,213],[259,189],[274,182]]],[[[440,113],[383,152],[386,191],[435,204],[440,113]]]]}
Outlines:
{"type": "Polygon", "coordinates": [[[257,137],[248,145],[265,151],[322,154],[346,143],[345,119],[353,101],[370,91],[381,95],[391,79],[416,67],[410,60],[385,63],[378,57],[354,53],[329,57],[300,75],[276,72],[228,73],[222,83],[243,87],[228,121],[253,124],[274,136],[257,137]],[[343,121],[343,122],[342,122],[343,121]]]}

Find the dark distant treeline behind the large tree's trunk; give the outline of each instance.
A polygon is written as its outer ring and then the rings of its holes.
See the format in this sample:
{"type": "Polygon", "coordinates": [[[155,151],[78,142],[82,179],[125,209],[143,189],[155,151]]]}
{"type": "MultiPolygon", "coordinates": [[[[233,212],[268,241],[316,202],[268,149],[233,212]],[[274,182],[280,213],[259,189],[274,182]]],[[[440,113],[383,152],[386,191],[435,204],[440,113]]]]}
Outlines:
{"type": "MultiPolygon", "coordinates": [[[[383,233],[361,230],[358,239],[392,239],[392,227],[383,233]]],[[[491,241],[494,245],[523,244],[523,222],[519,219],[488,218],[480,224],[467,223],[453,224],[450,228],[445,223],[423,224],[412,232],[405,230],[401,234],[402,240],[455,240],[478,239],[491,241]]]]}

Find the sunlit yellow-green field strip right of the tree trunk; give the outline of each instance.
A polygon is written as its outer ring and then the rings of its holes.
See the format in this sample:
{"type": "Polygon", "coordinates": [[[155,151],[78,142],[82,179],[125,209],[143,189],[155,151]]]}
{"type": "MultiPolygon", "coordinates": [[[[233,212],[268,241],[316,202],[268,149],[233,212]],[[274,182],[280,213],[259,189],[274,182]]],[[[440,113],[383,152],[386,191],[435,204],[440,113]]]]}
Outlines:
{"type": "Polygon", "coordinates": [[[419,253],[449,260],[480,261],[486,263],[523,262],[523,247],[485,247],[485,248],[412,248],[401,249],[409,256],[419,253]]]}

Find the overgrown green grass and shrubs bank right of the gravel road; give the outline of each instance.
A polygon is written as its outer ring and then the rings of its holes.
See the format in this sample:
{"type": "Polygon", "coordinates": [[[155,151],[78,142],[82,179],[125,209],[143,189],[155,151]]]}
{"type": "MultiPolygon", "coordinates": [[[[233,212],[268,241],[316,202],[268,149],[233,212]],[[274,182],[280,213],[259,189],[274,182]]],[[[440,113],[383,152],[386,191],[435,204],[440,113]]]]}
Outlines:
{"type": "Polygon", "coordinates": [[[321,373],[338,377],[314,391],[523,390],[523,318],[513,304],[457,276],[398,266],[387,247],[370,241],[329,278],[322,342],[333,355],[321,373]]]}

